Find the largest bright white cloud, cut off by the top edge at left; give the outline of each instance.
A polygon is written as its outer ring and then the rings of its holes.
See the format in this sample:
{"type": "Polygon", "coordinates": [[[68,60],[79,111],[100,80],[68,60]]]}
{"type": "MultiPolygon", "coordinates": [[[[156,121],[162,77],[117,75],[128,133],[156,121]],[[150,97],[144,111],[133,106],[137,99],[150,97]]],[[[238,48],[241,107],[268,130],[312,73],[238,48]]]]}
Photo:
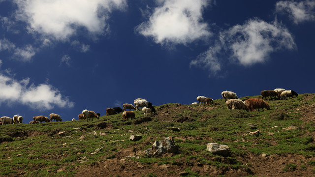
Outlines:
{"type": "Polygon", "coordinates": [[[78,28],[102,33],[109,14],[123,10],[126,0],[14,0],[18,5],[16,18],[25,21],[31,31],[67,39],[78,28]]]}

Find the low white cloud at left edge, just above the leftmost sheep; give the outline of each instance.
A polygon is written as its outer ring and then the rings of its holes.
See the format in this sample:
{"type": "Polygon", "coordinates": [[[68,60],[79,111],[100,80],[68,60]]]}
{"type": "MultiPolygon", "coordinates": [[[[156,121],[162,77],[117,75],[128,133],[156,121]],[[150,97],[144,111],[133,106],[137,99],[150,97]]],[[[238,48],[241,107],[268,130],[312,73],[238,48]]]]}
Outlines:
{"type": "Polygon", "coordinates": [[[58,89],[48,84],[28,87],[30,79],[17,81],[0,74],[0,103],[24,104],[33,109],[51,110],[55,106],[73,107],[74,103],[61,95],[58,89]]]}

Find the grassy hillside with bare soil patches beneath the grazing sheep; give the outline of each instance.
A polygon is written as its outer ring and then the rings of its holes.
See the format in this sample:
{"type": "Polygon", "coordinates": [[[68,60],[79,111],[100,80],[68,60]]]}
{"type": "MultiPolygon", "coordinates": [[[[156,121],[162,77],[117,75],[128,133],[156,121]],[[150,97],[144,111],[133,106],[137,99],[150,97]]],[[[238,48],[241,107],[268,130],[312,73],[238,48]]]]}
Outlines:
{"type": "MultiPolygon", "coordinates": [[[[241,99],[251,97],[261,96],[241,99]]],[[[143,118],[138,111],[125,122],[121,113],[89,122],[0,125],[0,176],[315,175],[315,94],[267,102],[271,110],[264,112],[227,110],[218,99],[202,107],[164,104],[155,107],[158,115],[143,118]],[[286,130],[291,125],[297,128],[286,130]],[[256,130],[261,134],[249,134],[256,130]],[[131,135],[142,139],[131,142],[131,135]],[[168,136],[178,154],[144,155],[168,136]],[[214,155],[206,151],[208,143],[227,145],[232,153],[214,155]]]]}

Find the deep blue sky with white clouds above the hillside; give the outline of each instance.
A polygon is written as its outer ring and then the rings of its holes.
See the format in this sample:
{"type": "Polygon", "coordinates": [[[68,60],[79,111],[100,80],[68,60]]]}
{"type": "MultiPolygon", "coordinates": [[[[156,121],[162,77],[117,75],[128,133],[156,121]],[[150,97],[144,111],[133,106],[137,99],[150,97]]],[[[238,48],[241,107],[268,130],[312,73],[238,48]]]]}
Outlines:
{"type": "Polygon", "coordinates": [[[0,0],[0,116],[314,92],[315,0],[0,0]]]}

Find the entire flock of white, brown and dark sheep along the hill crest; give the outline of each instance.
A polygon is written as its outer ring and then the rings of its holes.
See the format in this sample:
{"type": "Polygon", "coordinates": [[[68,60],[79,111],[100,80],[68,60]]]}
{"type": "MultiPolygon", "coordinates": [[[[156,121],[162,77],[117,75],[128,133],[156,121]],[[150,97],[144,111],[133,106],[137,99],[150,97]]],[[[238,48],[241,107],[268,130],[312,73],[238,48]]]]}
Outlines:
{"type": "MultiPolygon", "coordinates": [[[[293,96],[298,96],[298,94],[293,91],[293,90],[285,90],[285,89],[274,89],[274,90],[263,90],[260,92],[260,94],[262,95],[261,99],[259,98],[250,98],[247,99],[245,101],[242,101],[240,99],[238,99],[236,93],[232,92],[232,91],[222,91],[221,95],[225,100],[225,104],[227,109],[243,109],[246,111],[253,111],[254,109],[259,109],[261,108],[262,111],[264,111],[264,108],[266,108],[267,110],[270,110],[270,106],[268,105],[267,102],[265,102],[263,100],[263,98],[265,98],[267,100],[267,97],[270,96],[274,97],[276,99],[276,96],[278,97],[278,99],[284,98],[286,99],[287,97],[292,97],[293,96]]],[[[207,98],[205,96],[198,96],[197,97],[198,102],[194,102],[191,104],[199,104],[199,106],[202,105],[202,103],[204,103],[205,105],[211,105],[213,104],[213,99],[211,98],[207,98]]],[[[142,98],[138,98],[135,99],[133,101],[133,104],[128,104],[125,103],[123,104],[123,108],[120,107],[114,107],[114,108],[107,108],[106,109],[106,116],[109,115],[115,115],[118,113],[123,112],[123,119],[128,120],[128,118],[135,118],[135,114],[133,111],[131,111],[131,109],[138,111],[139,107],[142,108],[142,112],[143,112],[143,116],[148,116],[148,113],[151,114],[157,114],[157,111],[155,110],[155,108],[152,106],[151,102],[148,102],[145,99],[142,98]],[[127,109],[129,109],[129,111],[127,111],[127,109]]],[[[83,110],[82,114],[78,115],[79,120],[84,119],[89,121],[91,118],[93,120],[93,118],[99,118],[100,114],[99,113],[95,113],[94,111],[89,111],[89,110],[83,110]]],[[[58,114],[50,114],[49,118],[45,117],[45,116],[35,116],[33,117],[33,120],[30,121],[30,124],[34,124],[34,123],[41,123],[41,122],[50,122],[53,120],[56,121],[62,121],[61,117],[58,114]]],[[[1,117],[0,118],[0,124],[15,124],[15,123],[22,123],[23,117],[22,116],[17,116],[14,115],[13,118],[9,118],[9,117],[1,117]]],[[[72,121],[75,120],[74,118],[72,119],[72,121]]]]}

